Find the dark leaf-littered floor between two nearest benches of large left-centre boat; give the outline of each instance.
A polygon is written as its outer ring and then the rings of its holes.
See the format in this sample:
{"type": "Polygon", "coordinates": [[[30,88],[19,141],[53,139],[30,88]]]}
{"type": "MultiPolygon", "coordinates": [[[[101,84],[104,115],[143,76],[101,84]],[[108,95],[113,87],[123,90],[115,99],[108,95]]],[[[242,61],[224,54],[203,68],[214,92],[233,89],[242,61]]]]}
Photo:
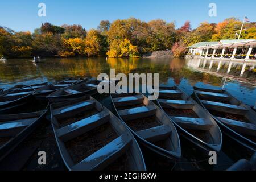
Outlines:
{"type": "Polygon", "coordinates": [[[88,133],[65,142],[65,146],[67,147],[73,162],[77,164],[97,150],[106,146],[106,144],[112,142],[117,137],[118,135],[115,133],[115,130],[110,123],[105,123],[96,129],[88,131],[88,133]]]}

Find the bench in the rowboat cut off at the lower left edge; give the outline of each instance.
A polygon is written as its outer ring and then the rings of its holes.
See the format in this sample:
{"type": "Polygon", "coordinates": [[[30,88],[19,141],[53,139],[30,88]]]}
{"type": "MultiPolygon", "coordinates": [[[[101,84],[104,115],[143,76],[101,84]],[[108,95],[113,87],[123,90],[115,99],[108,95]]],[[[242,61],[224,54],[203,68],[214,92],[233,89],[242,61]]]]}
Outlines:
{"type": "Polygon", "coordinates": [[[0,137],[10,137],[18,134],[24,127],[30,126],[37,118],[18,119],[0,122],[0,137]]]}

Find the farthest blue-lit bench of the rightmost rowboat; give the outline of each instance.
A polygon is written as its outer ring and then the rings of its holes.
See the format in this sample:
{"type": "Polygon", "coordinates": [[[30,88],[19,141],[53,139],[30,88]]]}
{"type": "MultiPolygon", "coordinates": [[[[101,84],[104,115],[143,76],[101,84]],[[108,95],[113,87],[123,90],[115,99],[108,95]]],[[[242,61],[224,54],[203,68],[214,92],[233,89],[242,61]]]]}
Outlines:
{"type": "Polygon", "coordinates": [[[215,92],[205,92],[205,91],[196,91],[197,95],[204,100],[216,100],[216,101],[230,101],[232,97],[225,93],[215,93],[215,92]]]}

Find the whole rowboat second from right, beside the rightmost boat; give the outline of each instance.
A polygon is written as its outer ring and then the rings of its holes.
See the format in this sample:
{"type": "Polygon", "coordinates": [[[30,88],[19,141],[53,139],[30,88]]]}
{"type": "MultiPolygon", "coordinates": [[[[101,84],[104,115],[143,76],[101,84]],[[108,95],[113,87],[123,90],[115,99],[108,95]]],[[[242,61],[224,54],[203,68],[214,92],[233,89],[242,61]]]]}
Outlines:
{"type": "Polygon", "coordinates": [[[159,87],[158,105],[184,138],[204,151],[219,152],[222,133],[214,118],[176,86],[159,87]]]}

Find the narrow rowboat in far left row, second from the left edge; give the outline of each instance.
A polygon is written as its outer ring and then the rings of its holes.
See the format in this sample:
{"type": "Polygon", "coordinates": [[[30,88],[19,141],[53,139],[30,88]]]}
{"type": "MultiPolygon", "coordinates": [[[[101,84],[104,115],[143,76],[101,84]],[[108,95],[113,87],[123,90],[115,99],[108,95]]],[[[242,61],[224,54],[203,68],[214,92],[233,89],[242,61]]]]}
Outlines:
{"type": "Polygon", "coordinates": [[[42,88],[39,88],[38,90],[36,90],[33,93],[33,95],[38,100],[46,100],[46,97],[49,94],[55,92],[56,90],[66,88],[68,86],[75,85],[75,84],[78,84],[80,82],[84,82],[86,80],[87,80],[87,78],[85,78],[85,79],[67,78],[63,81],[56,82],[56,83],[51,84],[51,85],[43,86],[42,88]]]}

